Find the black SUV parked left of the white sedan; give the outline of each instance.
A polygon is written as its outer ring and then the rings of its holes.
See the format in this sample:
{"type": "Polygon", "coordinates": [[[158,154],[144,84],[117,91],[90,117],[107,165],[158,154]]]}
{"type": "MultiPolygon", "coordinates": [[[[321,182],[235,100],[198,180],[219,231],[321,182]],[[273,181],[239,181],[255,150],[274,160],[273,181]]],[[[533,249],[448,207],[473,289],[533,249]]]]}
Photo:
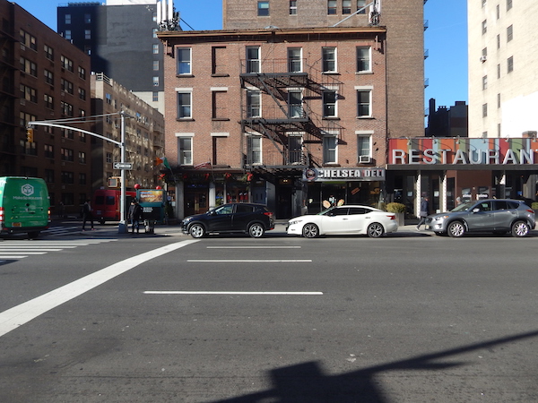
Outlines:
{"type": "Polygon", "coordinates": [[[212,232],[244,232],[253,238],[274,228],[273,213],[263,204],[228,203],[204,214],[186,217],[183,232],[201,238],[212,232]]]}

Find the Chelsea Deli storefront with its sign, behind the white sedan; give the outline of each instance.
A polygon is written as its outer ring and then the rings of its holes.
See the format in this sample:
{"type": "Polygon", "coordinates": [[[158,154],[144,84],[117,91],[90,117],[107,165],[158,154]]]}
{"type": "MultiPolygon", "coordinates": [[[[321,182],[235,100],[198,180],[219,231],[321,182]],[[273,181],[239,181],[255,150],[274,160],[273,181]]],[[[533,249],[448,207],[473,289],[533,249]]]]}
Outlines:
{"type": "Polygon", "coordinates": [[[384,168],[310,168],[304,171],[303,181],[308,214],[338,203],[377,206],[385,199],[384,168]]]}

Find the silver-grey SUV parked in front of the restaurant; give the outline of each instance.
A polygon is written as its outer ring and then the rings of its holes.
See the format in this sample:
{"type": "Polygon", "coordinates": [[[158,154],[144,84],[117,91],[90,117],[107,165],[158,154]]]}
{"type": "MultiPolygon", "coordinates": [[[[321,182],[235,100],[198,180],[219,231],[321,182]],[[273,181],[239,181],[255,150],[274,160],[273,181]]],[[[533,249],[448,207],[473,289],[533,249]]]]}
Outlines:
{"type": "Polygon", "coordinates": [[[426,229],[436,235],[464,236],[467,232],[492,232],[527,236],[534,229],[534,210],[519,200],[488,199],[467,201],[456,209],[432,214],[426,229]]]}

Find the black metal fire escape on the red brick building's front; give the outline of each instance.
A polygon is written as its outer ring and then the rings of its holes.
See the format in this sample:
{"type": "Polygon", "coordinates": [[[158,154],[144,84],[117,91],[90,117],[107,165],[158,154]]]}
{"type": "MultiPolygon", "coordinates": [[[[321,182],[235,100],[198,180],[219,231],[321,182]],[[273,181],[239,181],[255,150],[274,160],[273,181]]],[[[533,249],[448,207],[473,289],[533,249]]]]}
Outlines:
{"type": "Polygon", "coordinates": [[[325,133],[343,135],[337,120],[323,118],[324,97],[341,94],[342,83],[302,58],[255,57],[241,64],[244,169],[270,178],[300,176],[307,167],[321,166],[323,156],[313,155],[314,145],[323,149],[325,133]],[[258,148],[256,138],[270,142],[258,148]]]}

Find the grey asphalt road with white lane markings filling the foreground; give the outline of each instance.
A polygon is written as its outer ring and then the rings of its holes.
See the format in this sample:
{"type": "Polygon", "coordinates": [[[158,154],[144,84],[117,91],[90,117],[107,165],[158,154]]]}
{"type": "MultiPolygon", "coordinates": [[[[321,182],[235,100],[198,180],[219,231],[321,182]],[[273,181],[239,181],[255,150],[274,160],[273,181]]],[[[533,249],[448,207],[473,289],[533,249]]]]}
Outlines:
{"type": "Polygon", "coordinates": [[[538,401],[537,243],[26,241],[50,251],[0,264],[0,401],[538,401]]]}

